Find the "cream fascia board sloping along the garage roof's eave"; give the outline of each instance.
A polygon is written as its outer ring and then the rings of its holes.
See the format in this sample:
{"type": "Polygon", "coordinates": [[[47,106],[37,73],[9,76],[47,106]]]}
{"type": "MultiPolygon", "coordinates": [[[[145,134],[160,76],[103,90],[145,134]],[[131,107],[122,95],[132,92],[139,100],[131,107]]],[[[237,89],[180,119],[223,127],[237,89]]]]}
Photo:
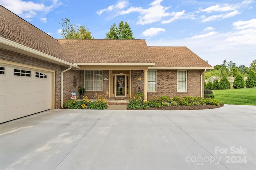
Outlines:
{"type": "Polygon", "coordinates": [[[72,66],[72,67],[75,67],[75,68],[80,68],[80,66],[77,66],[76,64],[72,64],[72,63],[69,63],[69,62],[64,61],[62,59],[58,59],[56,57],[53,57],[53,56],[48,55],[46,53],[42,53],[41,51],[37,51],[37,50],[32,49],[30,47],[26,47],[25,45],[16,43],[14,41],[10,41],[9,39],[3,38],[3,37],[0,37],[0,43],[2,43],[4,45],[8,45],[10,47],[14,47],[16,49],[20,49],[20,50],[29,52],[29,53],[33,53],[35,55],[39,55],[39,56],[44,57],[46,59],[50,59],[52,61],[55,61],[57,63],[61,63],[61,64],[68,65],[68,66],[72,66]]]}

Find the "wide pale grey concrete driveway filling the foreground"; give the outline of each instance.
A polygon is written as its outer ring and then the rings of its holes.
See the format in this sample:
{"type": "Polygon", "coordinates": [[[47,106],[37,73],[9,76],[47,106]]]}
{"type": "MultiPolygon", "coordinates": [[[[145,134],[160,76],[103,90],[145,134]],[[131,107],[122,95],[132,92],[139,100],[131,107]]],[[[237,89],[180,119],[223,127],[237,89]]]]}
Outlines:
{"type": "Polygon", "coordinates": [[[256,169],[256,106],[56,109],[0,125],[1,170],[256,169]]]}

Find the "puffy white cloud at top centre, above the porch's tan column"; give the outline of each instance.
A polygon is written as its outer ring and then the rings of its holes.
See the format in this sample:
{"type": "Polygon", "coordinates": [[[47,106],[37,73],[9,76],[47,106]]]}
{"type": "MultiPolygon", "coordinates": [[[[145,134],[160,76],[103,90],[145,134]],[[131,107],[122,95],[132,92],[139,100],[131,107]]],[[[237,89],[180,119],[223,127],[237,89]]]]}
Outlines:
{"type": "Polygon", "coordinates": [[[161,2],[162,0],[154,0],[154,2],[150,3],[150,7],[147,9],[141,7],[130,7],[128,10],[123,10],[119,14],[125,15],[131,12],[138,12],[140,14],[137,21],[138,25],[154,23],[162,20],[163,17],[171,15],[170,13],[166,12],[166,10],[168,10],[170,7],[162,6],[161,2]]]}

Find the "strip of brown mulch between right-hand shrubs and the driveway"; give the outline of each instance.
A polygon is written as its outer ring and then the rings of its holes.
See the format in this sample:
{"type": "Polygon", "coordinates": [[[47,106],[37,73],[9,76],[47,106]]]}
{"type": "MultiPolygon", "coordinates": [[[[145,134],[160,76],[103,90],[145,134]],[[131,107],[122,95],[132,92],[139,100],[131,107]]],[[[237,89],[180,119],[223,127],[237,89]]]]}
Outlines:
{"type": "MultiPolygon", "coordinates": [[[[148,107],[145,110],[201,110],[201,109],[216,109],[224,106],[223,103],[220,103],[220,106],[213,105],[199,105],[199,106],[164,106],[164,107],[148,107]]],[[[133,110],[128,109],[127,110],[133,110]]]]}

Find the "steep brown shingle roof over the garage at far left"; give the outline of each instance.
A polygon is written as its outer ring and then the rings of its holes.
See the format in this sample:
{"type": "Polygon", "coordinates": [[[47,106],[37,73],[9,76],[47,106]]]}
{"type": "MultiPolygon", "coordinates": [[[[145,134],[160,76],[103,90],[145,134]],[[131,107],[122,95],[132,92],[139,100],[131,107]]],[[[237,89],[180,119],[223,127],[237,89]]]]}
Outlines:
{"type": "Polygon", "coordinates": [[[60,43],[34,25],[0,6],[0,36],[69,63],[60,43]]]}

